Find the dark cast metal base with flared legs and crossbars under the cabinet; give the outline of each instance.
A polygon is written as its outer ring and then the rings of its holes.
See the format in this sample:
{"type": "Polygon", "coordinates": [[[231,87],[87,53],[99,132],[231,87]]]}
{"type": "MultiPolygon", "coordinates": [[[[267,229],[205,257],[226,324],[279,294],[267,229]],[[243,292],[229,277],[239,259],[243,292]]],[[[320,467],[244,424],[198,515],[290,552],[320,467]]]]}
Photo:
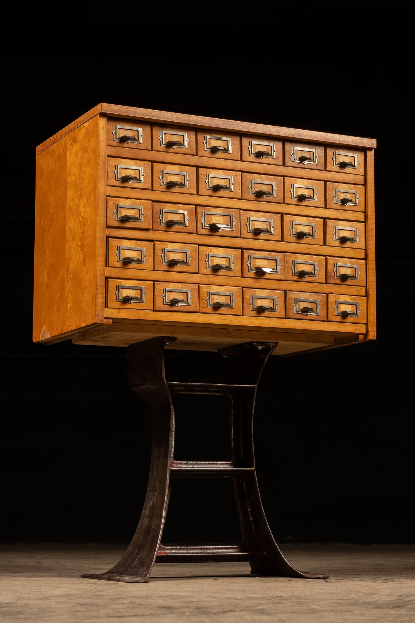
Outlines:
{"type": "Polygon", "coordinates": [[[159,337],[128,346],[128,380],[151,406],[152,455],[146,500],[126,553],[106,573],[81,578],[113,582],[148,582],[154,563],[248,561],[251,573],[286,578],[324,579],[329,576],[297,571],[282,556],[264,515],[256,480],[253,412],[256,388],[275,342],[246,342],[218,353],[235,357],[231,383],[179,380],[166,376],[164,346],[173,337],[159,337]],[[174,460],[175,394],[217,394],[231,400],[231,456],[223,461],[174,460]],[[231,478],[241,525],[242,545],[164,546],[162,530],[169,505],[172,478],[231,478]]]}

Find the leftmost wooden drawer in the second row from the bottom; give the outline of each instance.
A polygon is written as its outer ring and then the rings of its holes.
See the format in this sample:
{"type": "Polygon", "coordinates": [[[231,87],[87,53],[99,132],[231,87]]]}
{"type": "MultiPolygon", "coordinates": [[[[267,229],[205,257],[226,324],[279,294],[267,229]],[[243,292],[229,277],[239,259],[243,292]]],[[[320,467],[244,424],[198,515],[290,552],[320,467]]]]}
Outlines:
{"type": "Polygon", "coordinates": [[[117,269],[153,269],[153,243],[148,240],[107,238],[106,265],[117,269]]]}

